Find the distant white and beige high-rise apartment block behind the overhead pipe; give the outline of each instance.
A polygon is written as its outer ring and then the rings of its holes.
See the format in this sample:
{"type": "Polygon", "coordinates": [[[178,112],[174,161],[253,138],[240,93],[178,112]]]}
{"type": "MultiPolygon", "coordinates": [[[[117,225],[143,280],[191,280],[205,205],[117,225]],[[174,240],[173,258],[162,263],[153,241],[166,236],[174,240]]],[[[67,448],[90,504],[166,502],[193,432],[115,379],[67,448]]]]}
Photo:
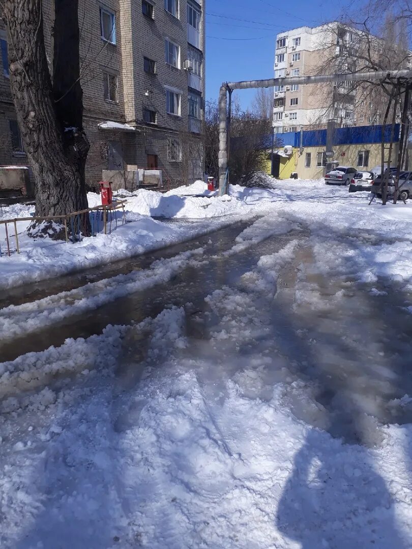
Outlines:
{"type": "MultiPolygon", "coordinates": [[[[361,34],[339,23],[299,27],[276,37],[275,77],[310,76],[357,70],[357,48],[361,34]]],[[[359,100],[352,82],[318,85],[276,86],[274,131],[296,131],[300,127],[324,128],[328,120],[339,126],[378,124],[374,102],[359,100]]]]}

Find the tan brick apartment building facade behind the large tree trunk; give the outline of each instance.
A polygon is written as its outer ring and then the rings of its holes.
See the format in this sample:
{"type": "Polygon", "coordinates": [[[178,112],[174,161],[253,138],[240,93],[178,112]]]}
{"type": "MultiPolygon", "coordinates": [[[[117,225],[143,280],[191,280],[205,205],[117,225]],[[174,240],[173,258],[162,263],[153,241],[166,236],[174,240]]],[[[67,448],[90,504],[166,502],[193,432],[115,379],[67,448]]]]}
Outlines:
{"type": "MultiPolygon", "coordinates": [[[[52,55],[52,2],[43,3],[52,55]]],[[[203,176],[204,0],[80,0],[86,182],[103,170],[159,169],[172,184],[203,176]]],[[[27,165],[0,29],[0,165],[27,165]]],[[[65,60],[58,60],[64,63],[65,60]]]]}

